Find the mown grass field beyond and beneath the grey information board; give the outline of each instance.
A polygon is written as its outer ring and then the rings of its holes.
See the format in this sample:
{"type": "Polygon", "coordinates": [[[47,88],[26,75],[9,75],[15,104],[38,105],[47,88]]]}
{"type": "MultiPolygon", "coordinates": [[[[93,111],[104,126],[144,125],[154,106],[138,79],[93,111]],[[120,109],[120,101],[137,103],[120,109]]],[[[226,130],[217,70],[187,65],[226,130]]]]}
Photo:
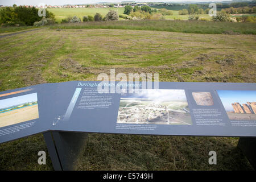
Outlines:
{"type": "MultiPolygon", "coordinates": [[[[254,24],[242,25],[254,29],[254,24]]],[[[234,30],[243,31],[239,27],[234,24],[234,30]]],[[[159,73],[160,81],[256,81],[255,35],[61,28],[0,38],[0,91],[96,80],[110,68],[116,74],[159,73]]],[[[77,169],[252,169],[237,143],[232,137],[89,134],[77,169]],[[217,165],[208,163],[211,150],[217,151],[217,165]]],[[[0,170],[53,169],[48,153],[47,165],[38,165],[41,150],[47,151],[42,134],[0,144],[0,170]]]]}

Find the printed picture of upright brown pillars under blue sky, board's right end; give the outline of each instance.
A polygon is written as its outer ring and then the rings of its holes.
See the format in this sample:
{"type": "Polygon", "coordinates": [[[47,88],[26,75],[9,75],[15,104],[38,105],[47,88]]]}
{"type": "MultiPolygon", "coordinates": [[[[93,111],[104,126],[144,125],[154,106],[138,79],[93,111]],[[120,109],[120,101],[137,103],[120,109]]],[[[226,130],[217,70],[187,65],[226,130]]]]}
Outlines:
{"type": "Polygon", "coordinates": [[[256,121],[255,90],[217,90],[228,114],[235,121],[256,121]]]}

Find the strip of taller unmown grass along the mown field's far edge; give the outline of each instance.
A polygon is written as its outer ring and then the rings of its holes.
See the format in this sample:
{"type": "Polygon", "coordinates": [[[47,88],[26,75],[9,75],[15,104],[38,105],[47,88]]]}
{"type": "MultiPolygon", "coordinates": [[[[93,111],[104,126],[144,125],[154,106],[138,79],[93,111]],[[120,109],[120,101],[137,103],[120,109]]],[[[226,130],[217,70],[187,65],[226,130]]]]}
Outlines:
{"type": "Polygon", "coordinates": [[[67,23],[52,26],[51,28],[104,28],[127,30],[157,30],[169,32],[185,32],[197,34],[222,34],[225,31],[240,34],[256,35],[256,23],[183,21],[183,20],[139,20],[139,21],[112,21],[112,22],[83,22],[67,23]]]}

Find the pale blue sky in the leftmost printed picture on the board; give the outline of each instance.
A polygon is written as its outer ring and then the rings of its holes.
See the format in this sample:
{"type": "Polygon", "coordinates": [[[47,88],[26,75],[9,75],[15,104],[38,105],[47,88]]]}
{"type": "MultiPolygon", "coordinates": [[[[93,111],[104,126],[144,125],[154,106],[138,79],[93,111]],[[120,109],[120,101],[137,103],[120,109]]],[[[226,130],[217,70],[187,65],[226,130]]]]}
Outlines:
{"type": "Polygon", "coordinates": [[[36,93],[26,94],[24,96],[6,98],[4,100],[0,100],[0,110],[6,107],[21,105],[27,102],[35,102],[35,101],[38,101],[38,95],[36,93]]]}

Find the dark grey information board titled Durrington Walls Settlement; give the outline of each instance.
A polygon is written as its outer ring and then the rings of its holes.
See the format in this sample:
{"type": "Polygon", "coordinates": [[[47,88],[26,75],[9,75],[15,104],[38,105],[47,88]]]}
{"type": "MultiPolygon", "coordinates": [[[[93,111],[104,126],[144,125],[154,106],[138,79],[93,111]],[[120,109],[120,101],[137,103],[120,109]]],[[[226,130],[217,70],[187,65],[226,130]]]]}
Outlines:
{"type": "Polygon", "coordinates": [[[256,137],[254,83],[159,82],[159,89],[137,93],[126,93],[129,86],[98,93],[99,84],[70,81],[1,92],[0,143],[49,130],[256,137]]]}

